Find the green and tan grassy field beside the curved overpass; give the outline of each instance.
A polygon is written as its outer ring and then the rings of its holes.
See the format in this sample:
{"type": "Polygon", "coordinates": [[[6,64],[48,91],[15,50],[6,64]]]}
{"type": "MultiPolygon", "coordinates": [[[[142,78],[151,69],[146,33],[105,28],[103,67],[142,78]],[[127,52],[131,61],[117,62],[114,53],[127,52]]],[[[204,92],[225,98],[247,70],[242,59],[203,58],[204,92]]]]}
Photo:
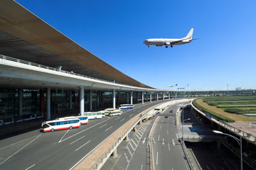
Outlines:
{"type": "Polygon", "coordinates": [[[212,114],[215,118],[226,122],[256,121],[256,117],[247,115],[256,114],[256,96],[218,96],[200,98],[193,104],[201,111],[212,114]]]}

